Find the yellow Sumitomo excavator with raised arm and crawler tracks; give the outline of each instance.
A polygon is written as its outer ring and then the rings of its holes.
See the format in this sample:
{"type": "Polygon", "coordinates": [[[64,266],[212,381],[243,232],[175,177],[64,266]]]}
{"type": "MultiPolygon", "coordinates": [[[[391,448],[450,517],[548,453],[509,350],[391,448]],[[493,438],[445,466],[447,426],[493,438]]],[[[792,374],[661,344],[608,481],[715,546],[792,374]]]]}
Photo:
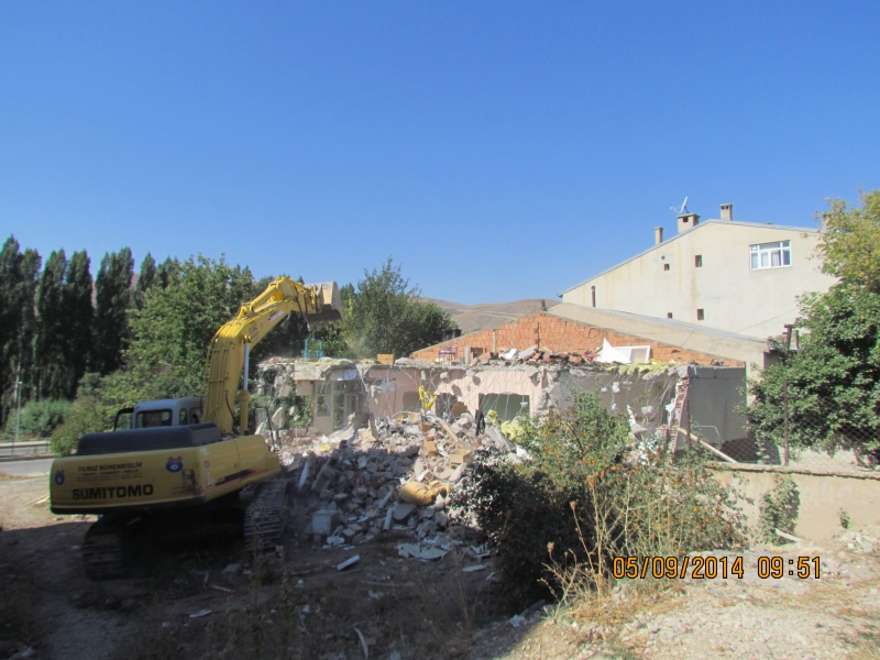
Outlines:
{"type": "Polygon", "coordinates": [[[251,348],[289,314],[311,328],[340,323],[339,287],[275,279],[215,334],[204,398],[142,402],[120,410],[113,431],[86,433],[74,455],[53,462],[52,512],[100,516],[82,543],[90,579],[123,576],[144,538],[185,534],[196,519],[241,525],[239,494],[252,484],[257,485],[244,512],[245,548],[275,547],[284,531],[288,482],[272,479],[280,473],[274,442],[248,435],[248,369],[251,348]]]}

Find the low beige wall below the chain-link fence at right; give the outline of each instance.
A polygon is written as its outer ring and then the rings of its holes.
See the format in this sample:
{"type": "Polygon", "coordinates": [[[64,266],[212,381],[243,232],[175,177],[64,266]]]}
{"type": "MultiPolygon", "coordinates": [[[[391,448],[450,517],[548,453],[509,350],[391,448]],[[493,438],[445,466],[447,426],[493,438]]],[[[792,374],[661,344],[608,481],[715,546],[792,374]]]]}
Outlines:
{"type": "MultiPolygon", "coordinates": [[[[771,491],[781,471],[725,469],[715,473],[724,484],[735,484],[745,498],[739,505],[751,525],[758,524],[761,496],[771,491]],[[751,499],[751,503],[748,502],[751,499]]],[[[795,536],[809,541],[829,539],[843,531],[840,509],[850,527],[880,525],[880,475],[820,475],[789,472],[798,486],[799,512],[795,536]]]]}

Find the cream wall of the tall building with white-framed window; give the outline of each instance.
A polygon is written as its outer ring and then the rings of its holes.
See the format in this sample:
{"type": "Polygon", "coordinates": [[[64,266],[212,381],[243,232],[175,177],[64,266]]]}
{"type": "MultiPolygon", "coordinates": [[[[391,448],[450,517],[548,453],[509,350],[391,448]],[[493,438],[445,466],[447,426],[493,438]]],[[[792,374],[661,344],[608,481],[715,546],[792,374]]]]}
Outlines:
{"type": "Polygon", "coordinates": [[[562,301],[593,307],[595,287],[597,308],[779,336],[798,316],[799,295],[825,292],[835,282],[811,258],[818,238],[813,229],[710,220],[572,287],[562,301]],[[752,271],[749,246],[776,241],[791,241],[791,265],[752,271]]]}

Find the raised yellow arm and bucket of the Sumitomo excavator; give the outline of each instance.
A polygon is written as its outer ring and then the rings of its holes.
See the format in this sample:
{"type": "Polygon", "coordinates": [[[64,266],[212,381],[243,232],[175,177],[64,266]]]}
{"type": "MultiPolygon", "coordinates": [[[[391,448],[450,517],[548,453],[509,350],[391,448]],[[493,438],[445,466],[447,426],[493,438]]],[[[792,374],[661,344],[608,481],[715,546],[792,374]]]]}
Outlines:
{"type": "Polygon", "coordinates": [[[248,428],[248,362],[251,349],[288,314],[298,314],[310,328],[337,324],[342,321],[342,301],[336,282],[299,284],[289,277],[278,277],[262,294],[242,305],[239,315],[213,336],[208,349],[205,421],[211,421],[220,432],[232,432],[233,407],[239,403],[241,432],[248,428]]]}

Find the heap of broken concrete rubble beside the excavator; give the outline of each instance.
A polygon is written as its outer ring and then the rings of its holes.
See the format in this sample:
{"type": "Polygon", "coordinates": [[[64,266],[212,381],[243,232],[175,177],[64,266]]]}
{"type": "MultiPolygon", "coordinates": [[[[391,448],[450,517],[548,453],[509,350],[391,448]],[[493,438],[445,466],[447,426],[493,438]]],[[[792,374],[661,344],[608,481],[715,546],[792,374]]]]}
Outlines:
{"type": "MultiPolygon", "coordinates": [[[[477,433],[470,413],[451,424],[399,413],[355,427],[289,439],[279,450],[299,506],[307,509],[301,535],[316,544],[358,546],[403,530],[413,542],[398,546],[402,557],[439,559],[457,538],[448,502],[464,472],[476,461],[517,451],[498,426],[477,433]]],[[[474,548],[471,554],[484,553],[474,548]]]]}

